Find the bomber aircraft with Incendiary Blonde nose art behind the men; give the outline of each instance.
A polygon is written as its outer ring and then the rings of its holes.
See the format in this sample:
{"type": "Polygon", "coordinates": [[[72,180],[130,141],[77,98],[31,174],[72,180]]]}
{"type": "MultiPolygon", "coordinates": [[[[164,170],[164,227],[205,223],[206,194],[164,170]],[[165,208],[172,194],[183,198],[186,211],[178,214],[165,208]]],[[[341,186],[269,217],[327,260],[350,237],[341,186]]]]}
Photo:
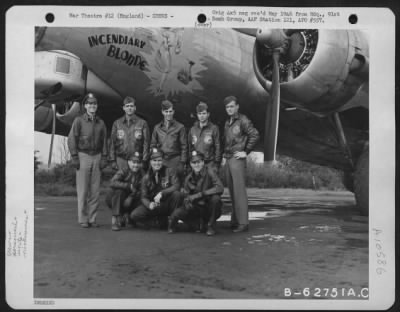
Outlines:
{"type": "Polygon", "coordinates": [[[368,214],[369,42],[358,30],[65,28],[35,29],[35,131],[67,135],[93,92],[111,129],[122,99],[135,97],[150,128],[169,99],[190,127],[204,101],[222,130],[223,99],[276,153],[343,170],[368,214]]]}

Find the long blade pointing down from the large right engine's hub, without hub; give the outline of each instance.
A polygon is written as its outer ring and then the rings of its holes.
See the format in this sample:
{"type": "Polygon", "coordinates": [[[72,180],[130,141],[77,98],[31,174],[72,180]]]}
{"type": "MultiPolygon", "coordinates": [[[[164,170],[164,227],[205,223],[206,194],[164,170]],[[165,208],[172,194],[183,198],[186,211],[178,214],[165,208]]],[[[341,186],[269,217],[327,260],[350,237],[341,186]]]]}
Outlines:
{"type": "Polygon", "coordinates": [[[276,160],[280,106],[279,58],[280,51],[275,49],[272,53],[271,101],[265,113],[264,162],[276,160]]]}

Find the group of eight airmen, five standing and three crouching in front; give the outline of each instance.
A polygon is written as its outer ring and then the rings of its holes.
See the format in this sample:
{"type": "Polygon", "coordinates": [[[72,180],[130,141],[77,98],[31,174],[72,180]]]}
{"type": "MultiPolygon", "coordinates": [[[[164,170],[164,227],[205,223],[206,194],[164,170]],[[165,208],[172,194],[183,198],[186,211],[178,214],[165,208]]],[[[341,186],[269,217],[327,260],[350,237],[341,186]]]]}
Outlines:
{"type": "Polygon", "coordinates": [[[123,100],[125,115],[113,123],[110,146],[105,124],[96,114],[95,95],[87,94],[83,105],[85,113],[75,118],[68,135],[72,163],[77,169],[81,227],[99,226],[96,217],[101,170],[111,162],[117,171],[111,179],[106,203],[112,212],[113,231],[128,225],[157,225],[174,233],[182,221],[188,228],[212,236],[223,205],[224,186],[218,171],[224,159],[232,199],[231,229],[235,233],[248,230],[246,158],[259,133],[239,113],[236,97],[224,99],[228,118],[223,144],[204,102],[196,106],[198,121],[186,133],[184,125],[174,119],[173,103],[162,101],[163,120],[150,135],[147,122],[136,115],[135,99],[127,96],[123,100]]]}

